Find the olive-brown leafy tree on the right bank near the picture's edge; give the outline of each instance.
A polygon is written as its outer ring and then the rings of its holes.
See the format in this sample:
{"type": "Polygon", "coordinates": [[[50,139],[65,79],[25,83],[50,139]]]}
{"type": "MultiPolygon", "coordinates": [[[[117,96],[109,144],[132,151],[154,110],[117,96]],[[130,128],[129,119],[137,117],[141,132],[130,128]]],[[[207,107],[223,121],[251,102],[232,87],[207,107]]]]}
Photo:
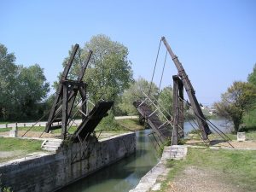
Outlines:
{"type": "Polygon", "coordinates": [[[256,90],[252,84],[236,81],[227,92],[222,94],[221,102],[214,103],[214,107],[219,115],[233,121],[237,132],[242,123],[243,114],[250,107],[255,96],[256,90]]]}

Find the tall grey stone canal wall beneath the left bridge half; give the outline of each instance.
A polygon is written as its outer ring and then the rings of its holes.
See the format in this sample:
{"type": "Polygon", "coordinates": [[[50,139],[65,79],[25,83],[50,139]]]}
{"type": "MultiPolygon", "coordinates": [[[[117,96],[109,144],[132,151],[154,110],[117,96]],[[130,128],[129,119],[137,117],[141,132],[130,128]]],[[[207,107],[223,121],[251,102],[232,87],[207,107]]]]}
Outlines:
{"type": "Polygon", "coordinates": [[[64,144],[57,154],[0,164],[2,186],[13,191],[55,191],[136,151],[135,133],[125,133],[99,141],[64,144]]]}

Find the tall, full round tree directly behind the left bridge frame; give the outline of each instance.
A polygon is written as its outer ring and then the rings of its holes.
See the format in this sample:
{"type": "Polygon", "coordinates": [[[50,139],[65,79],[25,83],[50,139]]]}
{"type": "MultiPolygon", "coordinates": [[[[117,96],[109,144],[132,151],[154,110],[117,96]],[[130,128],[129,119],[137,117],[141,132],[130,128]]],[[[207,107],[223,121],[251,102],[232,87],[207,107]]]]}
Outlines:
{"type": "MultiPolygon", "coordinates": [[[[101,99],[115,101],[131,83],[131,61],[128,60],[128,49],[119,42],[114,42],[108,36],[96,35],[80,49],[79,58],[75,58],[71,69],[70,79],[79,74],[80,61],[85,61],[89,50],[93,51],[89,66],[84,75],[84,82],[90,101],[101,99]]],[[[70,51],[71,53],[71,51],[70,51]]],[[[68,58],[63,65],[66,65],[68,58]]]]}

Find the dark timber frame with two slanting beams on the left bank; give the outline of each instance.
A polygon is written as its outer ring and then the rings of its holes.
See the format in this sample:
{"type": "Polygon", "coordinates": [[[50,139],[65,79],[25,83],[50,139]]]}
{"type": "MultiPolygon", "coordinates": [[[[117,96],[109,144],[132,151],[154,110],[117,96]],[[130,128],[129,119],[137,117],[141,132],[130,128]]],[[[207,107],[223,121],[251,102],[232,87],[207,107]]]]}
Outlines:
{"type": "MultiPolygon", "coordinates": [[[[68,119],[70,119],[72,116],[72,110],[74,108],[74,102],[76,101],[76,96],[78,92],[82,96],[82,102],[86,101],[86,85],[83,82],[83,77],[86,67],[89,64],[90,56],[92,55],[91,50],[88,53],[87,59],[82,63],[78,79],[67,79],[68,73],[73,65],[73,61],[78,50],[79,44],[75,44],[69,61],[67,62],[67,65],[65,66],[64,71],[61,75],[60,84],[56,91],[55,101],[50,110],[48,122],[45,127],[45,132],[61,128],[62,139],[65,139],[67,137],[68,119]],[[58,125],[54,125],[54,123],[57,123],[58,125]]],[[[86,104],[82,106],[82,111],[86,111],[86,104]]],[[[85,116],[83,115],[83,119],[84,118],[85,116]]]]}

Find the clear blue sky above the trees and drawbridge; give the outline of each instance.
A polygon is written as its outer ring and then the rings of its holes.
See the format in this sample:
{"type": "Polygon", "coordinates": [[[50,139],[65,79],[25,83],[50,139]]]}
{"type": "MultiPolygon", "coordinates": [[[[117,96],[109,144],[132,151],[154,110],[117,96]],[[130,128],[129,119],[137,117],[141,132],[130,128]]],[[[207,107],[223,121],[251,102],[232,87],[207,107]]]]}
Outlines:
{"type": "MultiPolygon", "coordinates": [[[[72,44],[105,34],[129,49],[134,78],[151,80],[158,45],[166,37],[189,75],[199,102],[212,105],[256,63],[254,0],[0,0],[0,44],[16,64],[38,63],[50,84],[72,44]]],[[[166,48],[161,45],[154,83],[166,48]]],[[[170,56],[161,88],[177,74],[170,56]]]]}

